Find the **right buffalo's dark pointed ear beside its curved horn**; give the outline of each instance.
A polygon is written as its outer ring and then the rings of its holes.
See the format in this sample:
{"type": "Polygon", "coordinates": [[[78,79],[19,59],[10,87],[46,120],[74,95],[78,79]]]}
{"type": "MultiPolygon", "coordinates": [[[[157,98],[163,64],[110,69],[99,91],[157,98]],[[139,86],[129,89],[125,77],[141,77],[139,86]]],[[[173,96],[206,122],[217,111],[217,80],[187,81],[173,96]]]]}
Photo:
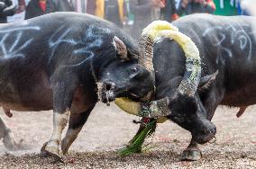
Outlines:
{"type": "Polygon", "coordinates": [[[201,78],[200,83],[198,84],[197,90],[199,92],[201,91],[206,91],[209,89],[209,87],[214,84],[217,75],[219,74],[219,71],[217,70],[214,74],[209,75],[209,76],[204,76],[201,78]]]}

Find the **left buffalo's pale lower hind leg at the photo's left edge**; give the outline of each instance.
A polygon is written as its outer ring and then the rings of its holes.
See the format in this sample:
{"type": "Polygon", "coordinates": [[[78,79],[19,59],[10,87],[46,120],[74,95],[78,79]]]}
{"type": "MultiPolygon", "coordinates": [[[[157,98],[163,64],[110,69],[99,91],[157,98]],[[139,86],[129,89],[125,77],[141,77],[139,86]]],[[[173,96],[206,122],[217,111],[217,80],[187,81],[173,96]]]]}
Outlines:
{"type": "Polygon", "coordinates": [[[7,126],[5,121],[0,117],[0,138],[3,138],[5,147],[11,150],[17,149],[17,144],[11,129],[7,126]]]}

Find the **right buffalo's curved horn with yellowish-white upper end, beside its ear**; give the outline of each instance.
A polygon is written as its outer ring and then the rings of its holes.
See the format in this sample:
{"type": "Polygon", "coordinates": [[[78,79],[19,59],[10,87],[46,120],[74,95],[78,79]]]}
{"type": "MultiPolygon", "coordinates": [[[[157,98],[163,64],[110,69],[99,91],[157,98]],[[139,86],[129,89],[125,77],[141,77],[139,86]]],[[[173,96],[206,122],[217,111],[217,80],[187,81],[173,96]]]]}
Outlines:
{"type": "Polygon", "coordinates": [[[185,34],[179,31],[160,31],[158,36],[169,37],[175,40],[184,50],[186,57],[186,72],[178,86],[180,93],[192,96],[197,92],[201,77],[201,59],[196,44],[185,34]]]}

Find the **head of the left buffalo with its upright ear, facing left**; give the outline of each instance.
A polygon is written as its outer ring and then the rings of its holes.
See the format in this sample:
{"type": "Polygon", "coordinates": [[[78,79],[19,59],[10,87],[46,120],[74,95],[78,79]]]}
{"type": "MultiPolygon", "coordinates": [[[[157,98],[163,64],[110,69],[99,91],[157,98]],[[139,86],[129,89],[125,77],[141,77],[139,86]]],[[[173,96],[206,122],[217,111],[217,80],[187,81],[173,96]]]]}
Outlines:
{"type": "Polygon", "coordinates": [[[134,100],[147,98],[154,90],[154,78],[147,67],[140,64],[138,56],[126,49],[122,40],[114,37],[116,59],[104,68],[100,75],[98,96],[108,103],[116,97],[130,97],[134,100]],[[138,64],[139,62],[139,64],[138,64]]]}

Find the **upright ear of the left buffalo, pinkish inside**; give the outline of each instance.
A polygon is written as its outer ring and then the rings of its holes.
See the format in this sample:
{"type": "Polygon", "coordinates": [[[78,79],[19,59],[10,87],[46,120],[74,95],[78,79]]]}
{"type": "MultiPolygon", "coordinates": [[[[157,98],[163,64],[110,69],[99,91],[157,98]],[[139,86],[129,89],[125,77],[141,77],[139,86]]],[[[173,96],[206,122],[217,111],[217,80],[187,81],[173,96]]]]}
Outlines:
{"type": "Polygon", "coordinates": [[[121,58],[122,60],[129,60],[128,55],[127,55],[127,49],[126,46],[124,45],[123,41],[114,36],[113,38],[113,44],[114,48],[116,49],[117,56],[121,58]]]}

